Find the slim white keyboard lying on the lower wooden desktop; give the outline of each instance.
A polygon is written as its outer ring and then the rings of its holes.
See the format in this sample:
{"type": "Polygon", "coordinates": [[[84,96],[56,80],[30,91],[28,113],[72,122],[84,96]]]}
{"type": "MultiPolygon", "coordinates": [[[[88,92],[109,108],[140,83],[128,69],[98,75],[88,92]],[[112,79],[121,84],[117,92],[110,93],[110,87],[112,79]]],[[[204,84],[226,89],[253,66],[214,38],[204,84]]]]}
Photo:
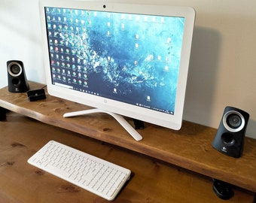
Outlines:
{"type": "Polygon", "coordinates": [[[28,162],[109,201],[117,196],[131,173],[129,169],[56,141],[49,141],[28,162]]]}

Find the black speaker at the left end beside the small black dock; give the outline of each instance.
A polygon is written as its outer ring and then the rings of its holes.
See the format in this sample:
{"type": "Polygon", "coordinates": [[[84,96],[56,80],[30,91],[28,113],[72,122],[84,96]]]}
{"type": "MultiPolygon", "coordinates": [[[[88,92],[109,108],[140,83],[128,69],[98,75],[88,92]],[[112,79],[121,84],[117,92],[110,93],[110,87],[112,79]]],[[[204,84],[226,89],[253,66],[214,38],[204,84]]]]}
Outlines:
{"type": "Polygon", "coordinates": [[[8,61],[7,70],[9,92],[27,92],[29,83],[26,80],[23,62],[17,60],[8,61]]]}

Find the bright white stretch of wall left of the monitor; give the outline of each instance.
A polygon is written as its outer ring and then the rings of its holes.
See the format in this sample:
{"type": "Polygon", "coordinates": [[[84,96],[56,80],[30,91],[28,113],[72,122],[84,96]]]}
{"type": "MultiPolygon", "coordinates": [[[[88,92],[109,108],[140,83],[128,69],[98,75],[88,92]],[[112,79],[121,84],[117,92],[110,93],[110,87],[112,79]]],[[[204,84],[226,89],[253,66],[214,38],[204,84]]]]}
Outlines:
{"type": "Polygon", "coordinates": [[[23,61],[28,80],[44,80],[38,1],[1,2],[0,30],[0,87],[8,84],[8,60],[23,61]]]}

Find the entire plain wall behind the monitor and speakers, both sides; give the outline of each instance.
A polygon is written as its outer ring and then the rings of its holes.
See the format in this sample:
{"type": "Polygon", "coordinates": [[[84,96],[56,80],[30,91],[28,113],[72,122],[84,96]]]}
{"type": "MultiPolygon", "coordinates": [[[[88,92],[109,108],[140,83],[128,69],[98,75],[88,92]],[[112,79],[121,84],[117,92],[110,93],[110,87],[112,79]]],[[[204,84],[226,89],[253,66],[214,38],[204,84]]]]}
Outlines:
{"type": "MultiPolygon", "coordinates": [[[[112,2],[148,3],[148,0],[112,2]]],[[[227,105],[251,115],[247,136],[256,138],[256,1],[151,0],[197,11],[184,119],[218,128],[227,105]]],[[[45,83],[38,1],[0,0],[0,87],[6,62],[24,62],[29,80],[45,83]]]]}

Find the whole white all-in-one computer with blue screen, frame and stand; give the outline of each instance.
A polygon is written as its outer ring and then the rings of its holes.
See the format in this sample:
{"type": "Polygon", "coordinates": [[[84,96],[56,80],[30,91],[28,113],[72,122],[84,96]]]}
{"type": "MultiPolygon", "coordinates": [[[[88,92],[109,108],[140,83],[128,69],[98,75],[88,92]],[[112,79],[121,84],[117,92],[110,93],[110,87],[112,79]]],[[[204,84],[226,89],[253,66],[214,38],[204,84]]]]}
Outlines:
{"type": "Polygon", "coordinates": [[[105,112],[136,140],[122,116],[181,128],[193,8],[43,0],[40,13],[48,92],[95,108],[65,117],[105,112]]]}

